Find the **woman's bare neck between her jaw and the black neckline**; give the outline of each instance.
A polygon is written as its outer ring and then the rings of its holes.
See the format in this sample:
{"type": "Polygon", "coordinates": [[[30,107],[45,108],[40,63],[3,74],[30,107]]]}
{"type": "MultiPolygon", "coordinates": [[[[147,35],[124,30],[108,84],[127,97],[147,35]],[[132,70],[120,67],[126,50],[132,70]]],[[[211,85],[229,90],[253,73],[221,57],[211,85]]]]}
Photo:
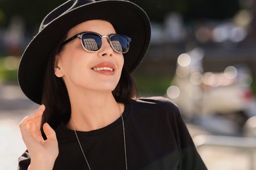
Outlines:
{"type": "Polygon", "coordinates": [[[71,118],[69,129],[91,131],[108,126],[121,116],[124,105],[117,103],[112,93],[70,94],[71,118]],[[72,126],[74,122],[74,127],[72,126]]]}

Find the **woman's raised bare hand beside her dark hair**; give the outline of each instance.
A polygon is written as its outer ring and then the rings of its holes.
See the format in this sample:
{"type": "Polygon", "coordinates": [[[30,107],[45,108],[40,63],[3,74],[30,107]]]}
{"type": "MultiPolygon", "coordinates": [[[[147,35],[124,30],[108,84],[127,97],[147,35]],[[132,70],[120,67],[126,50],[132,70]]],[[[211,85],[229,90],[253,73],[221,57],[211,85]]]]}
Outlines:
{"type": "Polygon", "coordinates": [[[41,105],[31,116],[26,116],[20,122],[22,139],[30,153],[30,169],[53,169],[58,156],[58,141],[55,131],[49,124],[43,124],[43,131],[47,140],[41,134],[41,120],[45,106],[41,105]]]}

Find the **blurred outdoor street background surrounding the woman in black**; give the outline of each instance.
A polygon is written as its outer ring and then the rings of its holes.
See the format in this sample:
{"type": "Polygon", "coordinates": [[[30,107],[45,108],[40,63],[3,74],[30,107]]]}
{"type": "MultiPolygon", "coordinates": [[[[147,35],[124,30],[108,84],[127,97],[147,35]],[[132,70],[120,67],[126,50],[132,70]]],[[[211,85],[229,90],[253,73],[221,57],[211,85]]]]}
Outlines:
{"type": "MultiPolygon", "coordinates": [[[[20,56],[64,2],[0,0],[0,169],[16,169],[26,149],[18,123],[37,108],[18,87],[20,56]]],[[[133,73],[139,96],[179,106],[209,169],[256,169],[256,0],[133,2],[152,21],[150,49],[133,73]]]]}

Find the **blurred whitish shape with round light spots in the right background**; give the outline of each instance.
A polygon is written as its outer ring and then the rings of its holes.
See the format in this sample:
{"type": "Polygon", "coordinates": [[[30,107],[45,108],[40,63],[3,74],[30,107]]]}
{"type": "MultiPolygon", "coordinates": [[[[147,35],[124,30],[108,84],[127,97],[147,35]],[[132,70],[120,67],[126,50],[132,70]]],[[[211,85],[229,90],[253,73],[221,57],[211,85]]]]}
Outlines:
{"type": "Polygon", "coordinates": [[[205,129],[238,133],[245,121],[256,115],[249,69],[228,66],[222,73],[204,73],[202,59],[200,48],[179,56],[167,97],[179,106],[185,118],[197,118],[205,129]]]}

